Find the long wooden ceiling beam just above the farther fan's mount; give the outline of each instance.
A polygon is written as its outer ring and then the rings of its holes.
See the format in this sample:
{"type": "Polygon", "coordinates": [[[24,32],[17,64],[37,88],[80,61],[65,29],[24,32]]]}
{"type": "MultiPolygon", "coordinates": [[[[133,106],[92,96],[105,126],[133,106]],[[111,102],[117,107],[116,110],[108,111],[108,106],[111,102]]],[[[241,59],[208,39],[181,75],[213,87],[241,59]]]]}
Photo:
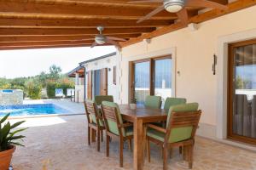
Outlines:
{"type": "Polygon", "coordinates": [[[1,19],[1,28],[24,28],[24,27],[69,27],[69,28],[96,28],[96,26],[104,26],[105,28],[124,28],[124,27],[161,27],[169,26],[173,22],[170,20],[145,20],[137,24],[137,20],[38,20],[38,19],[1,19]]]}

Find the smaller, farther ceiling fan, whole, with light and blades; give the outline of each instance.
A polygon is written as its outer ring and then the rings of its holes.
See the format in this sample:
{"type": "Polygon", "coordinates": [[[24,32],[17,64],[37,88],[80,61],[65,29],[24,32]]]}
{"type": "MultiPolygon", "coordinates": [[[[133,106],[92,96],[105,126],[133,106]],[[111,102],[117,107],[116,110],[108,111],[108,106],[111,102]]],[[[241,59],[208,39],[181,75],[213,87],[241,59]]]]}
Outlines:
{"type": "Polygon", "coordinates": [[[96,35],[95,42],[91,44],[90,48],[94,48],[95,46],[102,45],[104,43],[110,43],[116,46],[117,48],[120,48],[119,43],[116,41],[119,41],[119,42],[126,41],[124,38],[104,36],[102,34],[102,31],[104,30],[103,26],[97,26],[97,30],[100,31],[100,33],[96,35]]]}

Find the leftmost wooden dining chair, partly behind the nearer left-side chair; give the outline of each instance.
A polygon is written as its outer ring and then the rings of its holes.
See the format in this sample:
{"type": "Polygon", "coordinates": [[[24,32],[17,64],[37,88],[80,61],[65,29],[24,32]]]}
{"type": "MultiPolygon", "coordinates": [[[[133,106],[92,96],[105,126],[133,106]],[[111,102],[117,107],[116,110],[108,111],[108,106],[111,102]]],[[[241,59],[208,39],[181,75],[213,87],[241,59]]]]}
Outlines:
{"type": "MultiPolygon", "coordinates": [[[[103,123],[103,117],[99,113],[99,111],[96,108],[96,103],[90,100],[86,100],[84,102],[84,108],[85,113],[87,116],[88,121],[88,144],[90,145],[91,142],[91,136],[92,138],[95,138],[95,133],[93,130],[96,131],[96,137],[97,137],[97,150],[101,150],[101,136],[103,136],[103,130],[105,129],[104,123],[103,123]]],[[[103,138],[102,138],[103,141],[103,138]]]]}

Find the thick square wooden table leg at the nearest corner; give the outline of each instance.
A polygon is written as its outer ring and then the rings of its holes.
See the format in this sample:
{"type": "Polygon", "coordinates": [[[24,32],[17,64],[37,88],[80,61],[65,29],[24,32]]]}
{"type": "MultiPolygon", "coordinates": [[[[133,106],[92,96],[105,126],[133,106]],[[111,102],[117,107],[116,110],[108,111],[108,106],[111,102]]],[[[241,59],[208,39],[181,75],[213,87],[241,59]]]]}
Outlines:
{"type": "Polygon", "coordinates": [[[143,120],[136,119],[133,123],[134,133],[134,151],[133,151],[133,169],[143,169],[143,120]]]}

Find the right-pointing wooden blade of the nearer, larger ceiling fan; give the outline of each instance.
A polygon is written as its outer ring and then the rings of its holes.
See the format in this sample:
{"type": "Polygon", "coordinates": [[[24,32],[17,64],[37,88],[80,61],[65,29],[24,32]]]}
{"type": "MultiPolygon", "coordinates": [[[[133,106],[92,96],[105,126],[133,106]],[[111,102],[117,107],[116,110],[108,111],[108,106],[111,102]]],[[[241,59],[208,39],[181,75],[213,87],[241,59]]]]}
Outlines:
{"type": "Polygon", "coordinates": [[[189,7],[205,7],[205,8],[228,9],[228,7],[223,5],[223,4],[214,3],[212,1],[207,1],[207,0],[187,0],[186,6],[189,6],[189,7]]]}

